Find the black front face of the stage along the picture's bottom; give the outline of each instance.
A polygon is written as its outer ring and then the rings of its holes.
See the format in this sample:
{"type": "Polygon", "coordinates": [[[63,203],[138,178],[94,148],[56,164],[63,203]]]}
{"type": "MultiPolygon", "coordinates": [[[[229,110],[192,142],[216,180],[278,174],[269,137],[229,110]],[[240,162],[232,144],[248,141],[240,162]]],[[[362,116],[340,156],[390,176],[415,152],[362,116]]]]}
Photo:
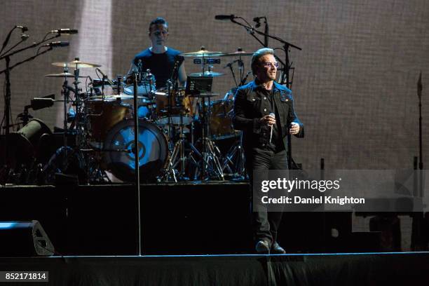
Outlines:
{"type": "Polygon", "coordinates": [[[30,284],[55,286],[428,285],[429,254],[0,258],[0,269],[49,271],[30,284]]]}

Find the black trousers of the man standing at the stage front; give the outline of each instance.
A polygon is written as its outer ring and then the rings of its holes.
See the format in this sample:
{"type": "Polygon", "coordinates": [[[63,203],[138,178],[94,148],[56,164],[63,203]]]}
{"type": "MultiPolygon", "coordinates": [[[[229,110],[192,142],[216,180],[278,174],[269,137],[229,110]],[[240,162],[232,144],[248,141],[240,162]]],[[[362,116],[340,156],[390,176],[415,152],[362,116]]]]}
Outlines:
{"type": "MultiPolygon", "coordinates": [[[[266,149],[253,148],[250,152],[246,152],[246,168],[247,174],[250,177],[250,188],[253,196],[252,202],[260,202],[259,195],[261,193],[253,193],[253,173],[258,174],[268,173],[268,170],[287,170],[287,152],[282,150],[279,152],[269,151],[266,149]]],[[[268,212],[266,206],[258,205],[257,212],[252,207],[252,224],[254,230],[254,238],[256,241],[261,239],[268,240],[270,244],[277,240],[278,227],[282,219],[282,212],[268,212]]]]}

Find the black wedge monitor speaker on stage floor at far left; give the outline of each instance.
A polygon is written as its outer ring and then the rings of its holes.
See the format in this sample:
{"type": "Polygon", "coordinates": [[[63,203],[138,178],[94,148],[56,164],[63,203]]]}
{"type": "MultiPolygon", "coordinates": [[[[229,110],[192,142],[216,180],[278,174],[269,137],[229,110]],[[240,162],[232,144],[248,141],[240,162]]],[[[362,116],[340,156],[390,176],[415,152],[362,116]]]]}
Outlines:
{"type": "Polygon", "coordinates": [[[54,252],[38,221],[0,222],[0,257],[50,256],[54,252]]]}

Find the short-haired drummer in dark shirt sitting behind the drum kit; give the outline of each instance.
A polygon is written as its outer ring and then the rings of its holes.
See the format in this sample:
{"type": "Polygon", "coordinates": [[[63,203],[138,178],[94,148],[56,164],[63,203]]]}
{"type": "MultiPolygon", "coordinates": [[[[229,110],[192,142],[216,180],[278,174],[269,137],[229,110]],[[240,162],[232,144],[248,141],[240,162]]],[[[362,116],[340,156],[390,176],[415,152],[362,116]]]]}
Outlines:
{"type": "Polygon", "coordinates": [[[151,74],[154,74],[156,89],[167,86],[168,79],[177,79],[179,85],[184,86],[186,82],[184,57],[179,56],[181,52],[178,50],[165,46],[168,39],[168,22],[164,18],[158,17],[149,24],[149,39],[152,46],[135,55],[129,74],[138,70],[137,66],[141,60],[142,71],[150,69],[151,74]],[[173,75],[176,61],[178,61],[177,74],[173,75]]]}

